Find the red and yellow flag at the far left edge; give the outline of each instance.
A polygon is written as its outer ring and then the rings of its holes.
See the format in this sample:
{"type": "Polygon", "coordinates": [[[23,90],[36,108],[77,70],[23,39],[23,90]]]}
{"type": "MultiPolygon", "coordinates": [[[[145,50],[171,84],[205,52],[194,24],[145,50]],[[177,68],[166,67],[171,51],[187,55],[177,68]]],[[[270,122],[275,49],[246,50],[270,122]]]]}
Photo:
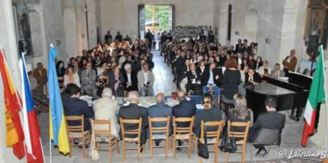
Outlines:
{"type": "Polygon", "coordinates": [[[22,159],[25,155],[25,150],[24,132],[19,118],[19,112],[22,109],[21,98],[14,88],[8,69],[4,51],[0,48],[0,73],[4,86],[4,108],[6,114],[6,146],[12,147],[15,156],[18,159],[22,159]]]}

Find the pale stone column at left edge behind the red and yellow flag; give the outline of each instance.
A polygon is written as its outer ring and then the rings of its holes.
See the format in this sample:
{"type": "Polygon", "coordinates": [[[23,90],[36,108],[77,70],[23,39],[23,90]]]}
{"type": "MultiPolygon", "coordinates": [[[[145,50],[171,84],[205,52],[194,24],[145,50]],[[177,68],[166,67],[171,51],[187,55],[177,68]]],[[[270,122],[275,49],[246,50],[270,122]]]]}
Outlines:
{"type": "MultiPolygon", "coordinates": [[[[21,91],[21,78],[19,77],[19,58],[15,36],[14,17],[11,6],[11,0],[0,1],[0,46],[4,48],[6,52],[6,60],[8,61],[11,78],[14,81],[16,90],[21,91]]],[[[1,77],[0,77],[1,78],[1,77]]],[[[4,124],[4,89],[2,80],[0,80],[0,131],[6,131],[4,124]]],[[[0,134],[0,162],[12,162],[12,163],[23,163],[26,159],[16,159],[14,157],[13,150],[6,147],[6,136],[4,133],[0,134]]]]}

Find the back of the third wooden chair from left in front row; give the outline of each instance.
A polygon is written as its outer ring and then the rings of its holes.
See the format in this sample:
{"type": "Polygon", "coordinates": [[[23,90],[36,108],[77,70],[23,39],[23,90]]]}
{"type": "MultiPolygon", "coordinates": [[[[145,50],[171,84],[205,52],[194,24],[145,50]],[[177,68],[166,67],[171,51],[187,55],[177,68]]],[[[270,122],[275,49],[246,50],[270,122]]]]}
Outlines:
{"type": "Polygon", "coordinates": [[[142,121],[143,121],[142,117],[136,120],[123,119],[122,117],[120,117],[122,137],[124,138],[125,135],[138,135],[138,137],[140,137],[142,121]],[[134,130],[125,130],[124,128],[125,124],[137,125],[138,127],[137,129],[134,130]]]}

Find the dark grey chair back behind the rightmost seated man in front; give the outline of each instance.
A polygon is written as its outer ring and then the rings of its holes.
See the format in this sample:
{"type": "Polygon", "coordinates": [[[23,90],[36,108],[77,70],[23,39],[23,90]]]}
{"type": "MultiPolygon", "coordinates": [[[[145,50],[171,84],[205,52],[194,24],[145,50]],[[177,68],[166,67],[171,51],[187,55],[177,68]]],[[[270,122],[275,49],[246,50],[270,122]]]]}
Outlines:
{"type": "Polygon", "coordinates": [[[258,133],[255,143],[270,145],[274,144],[280,137],[280,130],[270,130],[262,128],[258,133]]]}

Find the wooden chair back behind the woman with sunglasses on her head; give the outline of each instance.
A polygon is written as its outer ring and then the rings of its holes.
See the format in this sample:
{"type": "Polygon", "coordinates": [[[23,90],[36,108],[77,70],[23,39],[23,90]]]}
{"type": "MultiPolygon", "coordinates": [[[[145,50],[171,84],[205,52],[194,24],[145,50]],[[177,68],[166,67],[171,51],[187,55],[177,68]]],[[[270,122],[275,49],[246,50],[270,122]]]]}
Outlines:
{"type": "Polygon", "coordinates": [[[202,120],[201,125],[200,125],[200,139],[203,140],[205,137],[205,127],[206,127],[206,137],[216,137],[217,142],[220,139],[220,133],[222,131],[222,126],[224,124],[223,120],[220,121],[209,121],[209,122],[204,122],[202,120]],[[217,127],[217,130],[215,131],[208,131],[208,128],[210,127],[217,127]]]}

